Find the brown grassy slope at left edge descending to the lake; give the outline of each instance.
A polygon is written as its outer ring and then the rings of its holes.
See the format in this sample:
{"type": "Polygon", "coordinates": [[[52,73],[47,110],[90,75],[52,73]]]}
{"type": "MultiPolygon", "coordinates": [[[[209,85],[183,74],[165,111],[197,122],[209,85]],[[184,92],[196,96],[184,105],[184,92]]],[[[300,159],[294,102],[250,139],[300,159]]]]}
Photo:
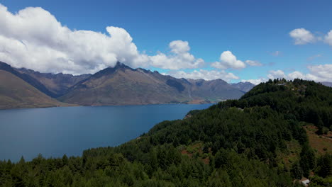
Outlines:
{"type": "Polygon", "coordinates": [[[46,96],[26,81],[0,70],[0,109],[67,106],[46,96]]]}

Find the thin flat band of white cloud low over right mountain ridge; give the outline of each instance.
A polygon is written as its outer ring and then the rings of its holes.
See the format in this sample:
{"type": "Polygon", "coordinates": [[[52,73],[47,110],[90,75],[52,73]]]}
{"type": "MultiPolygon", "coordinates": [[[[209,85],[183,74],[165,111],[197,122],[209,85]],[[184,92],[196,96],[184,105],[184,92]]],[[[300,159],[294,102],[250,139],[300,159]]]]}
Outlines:
{"type": "Polygon", "coordinates": [[[184,72],[184,71],[171,71],[167,72],[172,77],[176,78],[184,78],[184,79],[204,79],[204,80],[214,80],[214,79],[223,79],[224,81],[231,81],[232,79],[239,79],[236,75],[226,72],[224,70],[216,71],[216,70],[205,70],[199,69],[194,70],[192,72],[184,72]]]}

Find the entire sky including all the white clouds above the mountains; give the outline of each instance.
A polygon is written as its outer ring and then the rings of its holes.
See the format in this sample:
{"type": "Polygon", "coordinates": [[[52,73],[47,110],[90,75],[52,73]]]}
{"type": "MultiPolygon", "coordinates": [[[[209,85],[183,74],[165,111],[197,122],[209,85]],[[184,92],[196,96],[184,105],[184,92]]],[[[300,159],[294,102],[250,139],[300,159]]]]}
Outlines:
{"type": "Polygon", "coordinates": [[[332,1],[0,0],[0,61],[95,73],[332,81],[332,1]]]}

